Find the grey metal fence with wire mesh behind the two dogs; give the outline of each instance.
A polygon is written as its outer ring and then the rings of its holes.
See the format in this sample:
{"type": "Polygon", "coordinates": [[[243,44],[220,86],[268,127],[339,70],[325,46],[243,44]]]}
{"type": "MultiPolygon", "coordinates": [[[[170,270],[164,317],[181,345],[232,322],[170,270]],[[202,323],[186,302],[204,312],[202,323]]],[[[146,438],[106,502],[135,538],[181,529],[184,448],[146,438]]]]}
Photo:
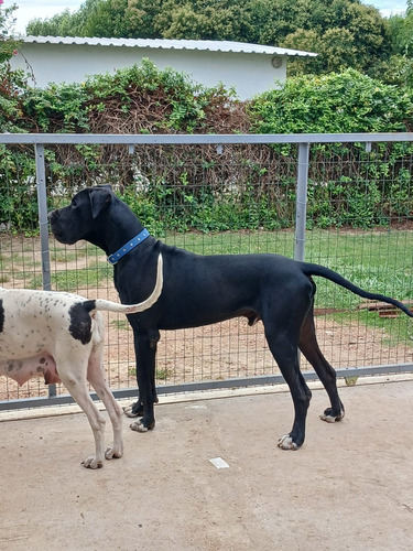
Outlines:
{"type": "MultiPolygon", "coordinates": [[[[0,284],[118,300],[112,268],[86,242],[62,246],[47,212],[110,183],[167,244],[198,253],[276,252],[328,266],[413,304],[413,134],[2,134],[0,284]]],[[[411,321],[317,281],[320,348],[339,376],[413,371],[411,321]],[[371,310],[372,307],[372,310],[371,310]]],[[[108,314],[106,369],[135,396],[132,333],[108,314]]],[[[302,359],[307,379],[316,378],[302,359]]],[[[162,332],[160,393],[283,379],[262,324],[162,332]]],[[[72,401],[42,380],[0,378],[0,409],[72,401]]]]}

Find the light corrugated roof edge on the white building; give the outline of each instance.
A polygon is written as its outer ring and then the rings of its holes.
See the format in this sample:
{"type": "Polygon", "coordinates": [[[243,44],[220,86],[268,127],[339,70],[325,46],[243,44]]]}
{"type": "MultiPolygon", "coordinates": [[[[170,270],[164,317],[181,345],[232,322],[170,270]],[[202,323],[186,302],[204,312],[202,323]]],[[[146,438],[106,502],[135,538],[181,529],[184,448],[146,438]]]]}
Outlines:
{"type": "Polygon", "coordinates": [[[198,50],[208,52],[232,52],[243,54],[286,55],[313,57],[313,52],[285,47],[248,44],[244,42],[213,40],[162,40],[162,39],[93,39],[80,36],[20,36],[23,42],[37,44],[79,44],[88,46],[124,46],[159,50],[198,50]]]}

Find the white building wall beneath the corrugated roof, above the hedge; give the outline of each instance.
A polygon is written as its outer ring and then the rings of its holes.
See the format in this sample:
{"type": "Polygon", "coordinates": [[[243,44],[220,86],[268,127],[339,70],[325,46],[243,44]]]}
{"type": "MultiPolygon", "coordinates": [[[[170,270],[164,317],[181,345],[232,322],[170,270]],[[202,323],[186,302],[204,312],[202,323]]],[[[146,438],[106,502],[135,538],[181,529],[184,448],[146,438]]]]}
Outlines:
{"type": "Polygon", "coordinates": [[[286,78],[285,56],[199,50],[23,43],[11,63],[13,68],[25,69],[28,62],[35,77],[34,85],[44,88],[51,82],[80,83],[86,76],[113,74],[118,68],[139,65],[144,57],[160,69],[171,66],[208,87],[220,82],[227,88],[235,87],[242,100],[286,78]],[[280,67],[273,66],[274,57],[274,65],[281,63],[280,67]]]}

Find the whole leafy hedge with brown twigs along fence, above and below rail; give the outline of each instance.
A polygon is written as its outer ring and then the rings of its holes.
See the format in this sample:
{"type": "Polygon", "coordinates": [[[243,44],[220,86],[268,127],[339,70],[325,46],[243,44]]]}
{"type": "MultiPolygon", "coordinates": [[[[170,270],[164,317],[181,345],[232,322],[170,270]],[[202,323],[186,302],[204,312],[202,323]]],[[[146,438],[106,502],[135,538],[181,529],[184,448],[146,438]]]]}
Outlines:
{"type": "MultiPolygon", "coordinates": [[[[413,128],[413,94],[355,69],[297,76],[280,89],[238,101],[149,61],[81,85],[22,88],[2,127],[93,133],[398,132],[413,128]]],[[[10,130],[9,130],[10,131],[10,130]]],[[[0,223],[29,231],[35,219],[31,148],[0,147],[0,223]]],[[[152,230],[202,231],[291,227],[296,147],[50,147],[48,196],[112,183],[152,230]]],[[[413,218],[412,147],[314,145],[309,218],[317,227],[389,226],[413,218]],[[410,163],[410,164],[409,164],[410,163]]]]}

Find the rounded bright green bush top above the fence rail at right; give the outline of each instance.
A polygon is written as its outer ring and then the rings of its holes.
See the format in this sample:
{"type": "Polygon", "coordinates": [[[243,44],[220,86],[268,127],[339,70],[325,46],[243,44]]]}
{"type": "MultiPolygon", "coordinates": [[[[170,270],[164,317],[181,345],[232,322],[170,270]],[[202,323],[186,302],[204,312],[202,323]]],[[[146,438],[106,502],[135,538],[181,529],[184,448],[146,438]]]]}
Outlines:
{"type": "Polygon", "coordinates": [[[405,132],[413,128],[413,90],[355,69],[289,78],[250,109],[259,133],[405,132]]]}

